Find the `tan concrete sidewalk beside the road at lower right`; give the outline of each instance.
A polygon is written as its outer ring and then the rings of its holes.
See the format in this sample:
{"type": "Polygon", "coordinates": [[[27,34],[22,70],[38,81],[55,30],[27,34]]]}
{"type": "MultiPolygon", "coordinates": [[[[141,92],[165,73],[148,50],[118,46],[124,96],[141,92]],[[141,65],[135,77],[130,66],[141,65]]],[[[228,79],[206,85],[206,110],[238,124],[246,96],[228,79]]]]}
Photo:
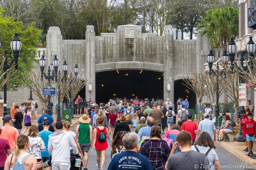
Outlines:
{"type": "Polygon", "coordinates": [[[215,143],[219,144],[229,152],[233,153],[234,155],[236,155],[237,158],[243,160],[247,164],[256,166],[255,156],[249,157],[246,155],[248,152],[243,151],[246,148],[246,146],[235,146],[235,142],[215,142],[215,143]],[[255,159],[252,159],[252,158],[255,158],[255,159]]]}

